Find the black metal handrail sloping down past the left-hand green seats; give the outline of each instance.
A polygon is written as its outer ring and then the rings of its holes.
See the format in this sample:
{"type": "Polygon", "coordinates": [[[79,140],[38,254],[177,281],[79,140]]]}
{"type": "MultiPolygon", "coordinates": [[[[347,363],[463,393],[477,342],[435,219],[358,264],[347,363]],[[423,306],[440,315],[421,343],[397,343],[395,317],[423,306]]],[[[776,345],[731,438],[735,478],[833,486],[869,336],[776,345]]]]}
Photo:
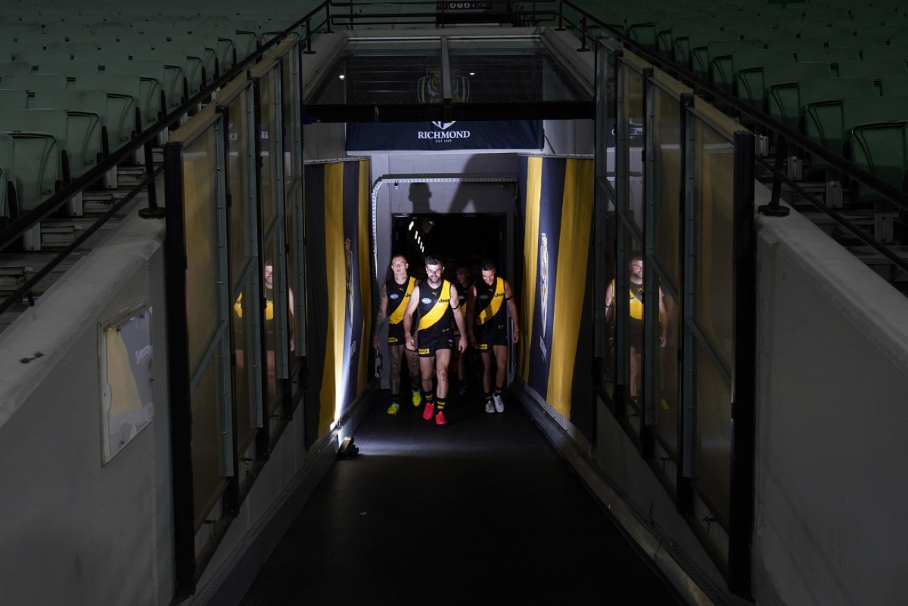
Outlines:
{"type": "MultiPolygon", "coordinates": [[[[329,11],[327,8],[331,4],[331,0],[326,0],[321,5],[312,9],[309,13],[301,17],[298,21],[294,22],[292,25],[284,29],[281,34],[274,36],[268,43],[262,45],[251,55],[245,57],[242,61],[234,65],[229,72],[220,75],[216,80],[213,80],[210,84],[207,84],[201,91],[197,94],[194,94],[190,99],[188,99],[180,107],[174,109],[170,114],[165,115],[163,118],[158,120],[152,126],[149,126],[143,133],[138,134],[133,137],[133,140],[129,144],[124,145],[122,148],[114,152],[113,154],[108,155],[104,160],[98,163],[92,170],[83,174],[82,176],[74,179],[69,184],[64,185],[62,189],[54,194],[50,195],[43,203],[36,206],[34,209],[29,211],[27,214],[23,215],[19,219],[15,220],[13,223],[7,225],[3,230],[0,230],[0,252],[3,252],[10,244],[15,243],[15,241],[22,237],[22,235],[31,229],[35,224],[40,222],[42,219],[47,217],[50,214],[53,214],[60,207],[62,207],[74,194],[84,191],[88,188],[89,185],[94,184],[101,178],[104,174],[114,168],[117,164],[123,162],[124,159],[128,158],[133,154],[137,149],[144,146],[146,150],[146,165],[151,162],[151,142],[153,139],[165,129],[169,129],[172,124],[175,124],[176,121],[183,114],[188,113],[198,104],[206,98],[211,98],[212,93],[222,88],[225,84],[230,82],[233,78],[241,75],[242,72],[247,69],[252,63],[257,63],[262,59],[264,55],[269,53],[272,48],[279,45],[281,41],[286,39],[288,35],[291,35],[298,27],[304,23],[307,25],[307,31],[311,32],[311,36],[319,35],[321,33],[321,27],[326,25],[328,22],[328,16],[326,16],[324,21],[321,21],[314,29],[311,29],[311,20],[312,17],[317,15],[321,10],[325,10],[326,13],[329,11]]],[[[305,42],[305,40],[301,40],[305,42]]],[[[4,313],[6,310],[11,308],[15,303],[21,301],[24,297],[27,296],[30,306],[35,305],[34,297],[30,295],[32,289],[35,288],[35,285],[44,278],[45,275],[54,270],[54,268],[60,263],[64,262],[64,259],[72,254],[81,243],[101,228],[107,221],[109,221],[117,211],[121,210],[123,206],[133,200],[133,198],[139,194],[139,192],[144,188],[148,187],[150,192],[150,204],[149,208],[142,209],[140,214],[147,218],[163,218],[163,209],[158,208],[157,204],[153,198],[153,188],[154,188],[154,178],[163,170],[163,165],[159,166],[157,169],[153,169],[150,174],[146,175],[143,181],[133,186],[132,190],[127,194],[122,201],[108,210],[106,213],[101,215],[97,221],[89,225],[84,233],[81,234],[78,238],[74,240],[73,243],[67,245],[60,253],[54,255],[47,263],[44,263],[44,267],[35,273],[34,276],[25,281],[25,283],[16,289],[15,293],[12,293],[6,296],[3,301],[0,301],[0,313],[4,313]],[[143,212],[151,211],[151,212],[143,212]]]]}

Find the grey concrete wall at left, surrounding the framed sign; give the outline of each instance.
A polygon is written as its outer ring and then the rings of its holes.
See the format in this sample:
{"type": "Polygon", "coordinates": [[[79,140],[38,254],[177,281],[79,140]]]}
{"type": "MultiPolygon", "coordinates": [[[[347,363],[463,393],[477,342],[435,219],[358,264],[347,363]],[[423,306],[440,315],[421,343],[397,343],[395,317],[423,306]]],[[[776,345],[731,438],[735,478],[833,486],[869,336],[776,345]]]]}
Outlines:
{"type": "Polygon", "coordinates": [[[162,221],[127,220],[2,335],[5,603],[173,598],[162,243],[162,221]],[[140,302],[153,308],[153,420],[102,465],[98,325],[140,302]]]}

